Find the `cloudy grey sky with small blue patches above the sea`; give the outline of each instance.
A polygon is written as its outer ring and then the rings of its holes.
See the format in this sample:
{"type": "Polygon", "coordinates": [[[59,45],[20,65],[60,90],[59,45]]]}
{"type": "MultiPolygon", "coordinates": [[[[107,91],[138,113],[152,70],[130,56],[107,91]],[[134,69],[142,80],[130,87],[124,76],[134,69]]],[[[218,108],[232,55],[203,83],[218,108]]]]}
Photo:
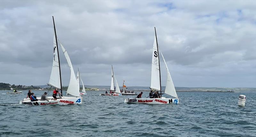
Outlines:
{"type": "MultiPolygon", "coordinates": [[[[0,1],[0,82],[46,85],[53,22],[84,85],[150,86],[157,41],[175,87],[256,87],[256,1],[0,1]]],[[[70,70],[60,50],[62,85],[70,70]]],[[[166,70],[160,58],[162,86],[166,70]]]]}

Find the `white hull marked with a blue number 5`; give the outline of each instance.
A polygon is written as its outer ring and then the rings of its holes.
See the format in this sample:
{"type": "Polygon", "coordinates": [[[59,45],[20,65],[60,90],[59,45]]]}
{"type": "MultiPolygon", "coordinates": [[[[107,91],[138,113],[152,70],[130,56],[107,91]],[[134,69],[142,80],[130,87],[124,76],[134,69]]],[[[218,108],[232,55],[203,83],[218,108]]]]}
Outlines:
{"type": "Polygon", "coordinates": [[[178,104],[178,98],[127,98],[124,103],[140,103],[140,104],[178,104]]]}

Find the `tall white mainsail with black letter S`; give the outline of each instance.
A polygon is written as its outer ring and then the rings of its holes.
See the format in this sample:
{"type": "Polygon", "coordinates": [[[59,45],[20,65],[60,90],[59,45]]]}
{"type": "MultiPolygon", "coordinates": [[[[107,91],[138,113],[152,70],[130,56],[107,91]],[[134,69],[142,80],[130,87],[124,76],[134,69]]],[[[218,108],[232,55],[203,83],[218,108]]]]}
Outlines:
{"type": "Polygon", "coordinates": [[[157,52],[156,36],[153,45],[152,65],[151,65],[151,89],[160,90],[160,73],[159,73],[159,59],[157,52]]]}

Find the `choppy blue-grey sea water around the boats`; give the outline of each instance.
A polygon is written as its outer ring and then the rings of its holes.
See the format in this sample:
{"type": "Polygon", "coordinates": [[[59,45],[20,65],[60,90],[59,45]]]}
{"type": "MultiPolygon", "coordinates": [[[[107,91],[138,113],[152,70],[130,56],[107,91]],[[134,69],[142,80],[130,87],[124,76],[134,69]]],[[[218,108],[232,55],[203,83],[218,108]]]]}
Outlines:
{"type": "MultiPolygon", "coordinates": [[[[43,92],[35,91],[38,97],[43,92]]],[[[0,91],[1,137],[256,136],[256,93],[178,92],[178,105],[147,105],[124,103],[132,96],[89,91],[82,105],[45,106],[19,105],[27,91],[2,93],[6,91],[0,91]],[[246,95],[245,107],[237,105],[240,94],[246,95]]]]}

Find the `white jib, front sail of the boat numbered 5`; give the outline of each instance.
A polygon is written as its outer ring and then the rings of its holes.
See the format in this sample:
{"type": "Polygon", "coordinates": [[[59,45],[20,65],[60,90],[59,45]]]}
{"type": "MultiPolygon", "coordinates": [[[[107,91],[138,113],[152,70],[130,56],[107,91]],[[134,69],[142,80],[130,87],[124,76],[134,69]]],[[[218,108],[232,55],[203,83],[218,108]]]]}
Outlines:
{"type": "MultiPolygon", "coordinates": [[[[164,59],[164,56],[163,56],[162,52],[161,52],[161,55],[162,55],[162,57],[164,59]]],[[[167,64],[165,62],[165,59],[164,59],[164,64],[165,64],[166,71],[167,71],[167,80],[166,80],[166,87],[165,87],[164,93],[178,98],[178,95],[176,93],[176,90],[175,90],[173,82],[172,82],[171,74],[170,74],[169,69],[167,67],[167,64]]]]}

